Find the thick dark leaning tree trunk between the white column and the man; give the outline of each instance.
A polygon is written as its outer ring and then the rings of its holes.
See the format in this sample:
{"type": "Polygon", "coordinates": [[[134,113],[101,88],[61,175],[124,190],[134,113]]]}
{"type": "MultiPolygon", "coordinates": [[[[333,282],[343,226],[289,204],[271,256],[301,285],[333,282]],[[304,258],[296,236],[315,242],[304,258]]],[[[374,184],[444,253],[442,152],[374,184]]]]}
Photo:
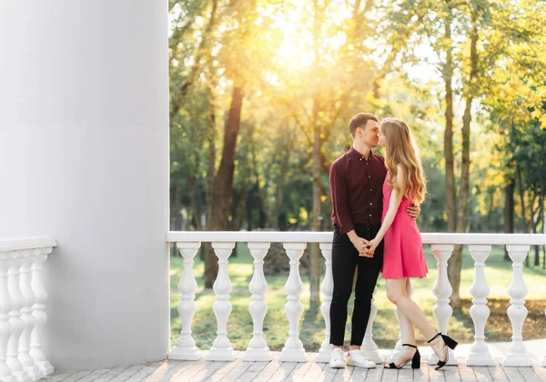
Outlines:
{"type": "MultiPolygon", "coordinates": [[[[227,215],[233,191],[233,173],[235,171],[235,151],[238,132],[241,125],[243,106],[243,86],[235,84],[231,97],[231,106],[224,130],[224,148],[222,159],[211,189],[211,222],[212,231],[221,231],[227,224],[227,215]]],[[[205,287],[212,287],[218,274],[217,256],[209,253],[205,262],[205,287]]]]}

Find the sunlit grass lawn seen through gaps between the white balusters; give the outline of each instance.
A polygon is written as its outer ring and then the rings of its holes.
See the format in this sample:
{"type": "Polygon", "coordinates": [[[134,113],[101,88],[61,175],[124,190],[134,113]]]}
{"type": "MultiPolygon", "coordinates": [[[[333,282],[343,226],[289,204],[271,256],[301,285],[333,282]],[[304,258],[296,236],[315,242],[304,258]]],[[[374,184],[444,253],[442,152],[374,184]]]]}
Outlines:
{"type": "MultiPolygon", "coordinates": [[[[426,246],[427,264],[430,273],[427,278],[413,280],[415,293],[413,298],[423,307],[425,314],[433,320],[432,307],[434,305],[434,286],[437,276],[436,259],[432,256],[430,246],[426,246]]],[[[490,297],[488,306],[491,315],[486,325],[486,337],[488,341],[509,341],[511,339],[511,323],[506,314],[510,306],[508,287],[511,283],[511,262],[503,260],[504,252],[501,247],[493,247],[490,257],[486,262],[486,279],[490,286],[490,297]]],[[[531,252],[531,255],[534,255],[531,252]]],[[[287,257],[288,261],[288,257],[287,257]]],[[[248,284],[252,278],[253,264],[252,256],[248,252],[246,244],[237,246],[237,256],[229,259],[227,268],[229,278],[233,284],[231,293],[231,304],[233,310],[227,321],[228,337],[233,347],[237,350],[244,350],[248,347],[248,341],[252,337],[252,317],[248,312],[250,303],[250,292],[248,284]]],[[[216,337],[217,322],[212,305],[215,301],[215,294],[211,289],[204,289],[204,264],[196,256],[194,273],[197,277],[197,312],[193,319],[192,331],[197,347],[208,349],[216,337]]],[[[309,308],[308,276],[301,270],[304,283],[304,292],[301,297],[305,310],[300,321],[300,339],[308,351],[318,351],[324,339],[324,320],[320,314],[319,307],[309,308]]],[[[177,341],[181,329],[180,317],[177,312],[177,304],[180,301],[180,294],[177,284],[183,273],[183,259],[181,256],[171,257],[170,265],[170,287],[171,287],[171,345],[177,341]]],[[[546,336],[546,270],[542,267],[530,267],[523,269],[525,284],[529,290],[526,297],[526,307],[529,309],[529,316],[523,327],[523,338],[539,338],[546,336]]],[[[268,280],[268,292],[266,303],[268,314],[264,321],[264,337],[268,347],[272,350],[280,350],[288,338],[288,318],[284,306],[287,302],[287,295],[284,285],[288,276],[266,276],[268,280]]],[[[460,296],[464,299],[463,308],[450,320],[448,331],[452,337],[457,338],[461,343],[473,341],[473,323],[470,318],[471,307],[470,286],[474,278],[474,262],[468,250],[463,251],[460,296]]],[[[378,293],[376,294],[376,305],[379,308],[378,316],[374,321],[373,336],[379,347],[393,347],[398,340],[398,322],[393,313],[393,306],[385,296],[385,283],[379,276],[378,293]],[[389,328],[389,329],[387,329],[389,328]]],[[[349,302],[349,319],[346,330],[346,342],[350,333],[350,312],[352,311],[352,299],[349,302]]],[[[422,340],[418,333],[418,338],[422,340]]],[[[424,341],[419,342],[420,345],[424,341]]]]}

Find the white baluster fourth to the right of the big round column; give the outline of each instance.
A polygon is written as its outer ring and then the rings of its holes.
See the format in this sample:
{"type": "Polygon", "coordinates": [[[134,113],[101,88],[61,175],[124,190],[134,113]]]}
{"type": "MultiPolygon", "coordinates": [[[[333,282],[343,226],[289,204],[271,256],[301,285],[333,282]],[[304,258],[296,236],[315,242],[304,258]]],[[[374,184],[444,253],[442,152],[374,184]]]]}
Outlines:
{"type": "Polygon", "coordinates": [[[283,246],[290,259],[290,274],[285,284],[285,290],[288,294],[285,312],[287,313],[290,328],[288,331],[288,340],[282,348],[278,360],[280,362],[306,362],[307,354],[303,348],[303,343],[299,339],[298,329],[299,318],[303,314],[303,304],[300,301],[303,283],[301,282],[301,276],[299,276],[299,259],[303,255],[306,244],[284,243],[283,246]]]}

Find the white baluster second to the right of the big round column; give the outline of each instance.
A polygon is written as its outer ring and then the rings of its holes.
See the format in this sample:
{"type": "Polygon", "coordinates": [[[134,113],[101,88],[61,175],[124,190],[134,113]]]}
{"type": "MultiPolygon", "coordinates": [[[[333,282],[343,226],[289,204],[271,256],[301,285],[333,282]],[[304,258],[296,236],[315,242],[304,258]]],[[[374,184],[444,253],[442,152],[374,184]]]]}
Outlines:
{"type": "Polygon", "coordinates": [[[229,276],[227,276],[227,259],[235,247],[235,243],[212,243],[218,258],[218,276],[212,288],[216,293],[216,302],[212,306],[217,317],[217,337],[208,351],[208,361],[233,361],[235,353],[229,338],[227,338],[227,318],[231,314],[229,294],[233,290],[229,276]]]}

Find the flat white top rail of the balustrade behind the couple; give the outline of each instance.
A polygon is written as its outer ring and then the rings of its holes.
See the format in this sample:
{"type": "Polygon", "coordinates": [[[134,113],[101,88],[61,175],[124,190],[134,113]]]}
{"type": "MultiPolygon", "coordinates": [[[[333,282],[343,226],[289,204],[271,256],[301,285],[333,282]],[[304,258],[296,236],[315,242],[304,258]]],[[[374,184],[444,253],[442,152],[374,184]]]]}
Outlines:
{"type": "MultiPolygon", "coordinates": [[[[282,242],[331,243],[329,231],[169,231],[167,242],[282,242]]],[[[423,244],[461,245],[546,245],[543,234],[450,234],[422,233],[423,244]]]]}

